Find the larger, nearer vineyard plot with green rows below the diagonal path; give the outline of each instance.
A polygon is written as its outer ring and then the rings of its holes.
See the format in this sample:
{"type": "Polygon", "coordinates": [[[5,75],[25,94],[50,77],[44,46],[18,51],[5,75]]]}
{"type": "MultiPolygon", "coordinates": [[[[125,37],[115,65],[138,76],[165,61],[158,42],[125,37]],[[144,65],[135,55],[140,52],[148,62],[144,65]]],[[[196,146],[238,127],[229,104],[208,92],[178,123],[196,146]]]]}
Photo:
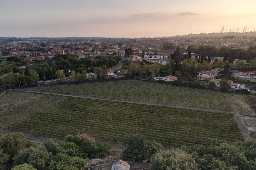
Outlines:
{"type": "Polygon", "coordinates": [[[85,132],[105,141],[143,133],[165,146],[196,145],[208,137],[241,140],[232,114],[113,101],[40,95],[0,113],[1,125],[13,130],[64,138],[85,132]]]}

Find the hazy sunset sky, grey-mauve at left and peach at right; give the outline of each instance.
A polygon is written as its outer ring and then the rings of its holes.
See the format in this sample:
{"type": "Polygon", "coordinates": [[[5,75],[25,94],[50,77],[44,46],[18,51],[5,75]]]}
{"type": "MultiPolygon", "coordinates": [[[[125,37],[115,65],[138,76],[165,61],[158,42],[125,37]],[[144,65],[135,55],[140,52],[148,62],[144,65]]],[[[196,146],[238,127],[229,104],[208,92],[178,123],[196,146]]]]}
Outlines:
{"type": "Polygon", "coordinates": [[[169,37],[247,32],[256,0],[0,0],[0,37],[169,37]]]}

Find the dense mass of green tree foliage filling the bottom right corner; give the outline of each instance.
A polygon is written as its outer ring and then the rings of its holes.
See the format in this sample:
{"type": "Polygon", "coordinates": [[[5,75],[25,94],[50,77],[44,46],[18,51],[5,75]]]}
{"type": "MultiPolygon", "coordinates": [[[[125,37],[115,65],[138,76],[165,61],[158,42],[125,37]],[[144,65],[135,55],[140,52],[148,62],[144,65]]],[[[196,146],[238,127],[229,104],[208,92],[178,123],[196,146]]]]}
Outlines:
{"type": "Polygon", "coordinates": [[[229,143],[208,139],[202,145],[188,149],[188,152],[196,158],[201,170],[244,170],[256,168],[254,147],[255,141],[229,143]]]}

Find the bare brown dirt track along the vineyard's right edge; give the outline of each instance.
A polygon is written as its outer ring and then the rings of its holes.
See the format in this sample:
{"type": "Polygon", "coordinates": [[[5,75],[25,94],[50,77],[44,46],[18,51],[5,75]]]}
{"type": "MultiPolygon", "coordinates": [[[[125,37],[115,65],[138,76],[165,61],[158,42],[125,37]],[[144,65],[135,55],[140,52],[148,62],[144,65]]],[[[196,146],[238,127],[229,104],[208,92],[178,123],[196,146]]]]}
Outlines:
{"type": "Polygon", "coordinates": [[[250,131],[247,129],[247,126],[244,122],[243,115],[241,114],[242,111],[244,111],[242,107],[239,107],[237,105],[237,102],[234,101],[234,99],[231,98],[230,94],[223,93],[225,100],[227,101],[230,108],[233,109],[233,117],[236,121],[236,124],[242,134],[242,137],[245,141],[247,140],[253,140],[253,138],[250,136],[250,131]]]}

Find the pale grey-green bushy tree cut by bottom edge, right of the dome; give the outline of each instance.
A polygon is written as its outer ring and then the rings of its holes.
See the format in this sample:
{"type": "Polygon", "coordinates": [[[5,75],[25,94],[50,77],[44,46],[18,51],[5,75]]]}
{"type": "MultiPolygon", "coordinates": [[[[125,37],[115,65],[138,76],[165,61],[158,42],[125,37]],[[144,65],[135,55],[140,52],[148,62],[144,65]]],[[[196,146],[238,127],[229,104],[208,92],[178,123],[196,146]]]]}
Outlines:
{"type": "Polygon", "coordinates": [[[151,170],[199,170],[192,154],[182,149],[162,150],[151,160],[151,170]]]}

